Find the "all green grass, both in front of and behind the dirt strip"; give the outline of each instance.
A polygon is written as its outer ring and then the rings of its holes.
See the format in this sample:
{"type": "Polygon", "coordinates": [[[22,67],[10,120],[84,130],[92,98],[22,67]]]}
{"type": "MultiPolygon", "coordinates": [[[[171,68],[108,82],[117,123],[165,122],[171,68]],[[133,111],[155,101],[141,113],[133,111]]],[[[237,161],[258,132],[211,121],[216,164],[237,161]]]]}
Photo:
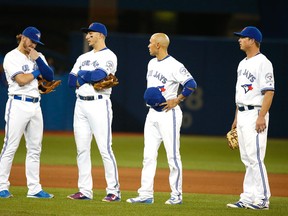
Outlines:
{"type": "MultiPolygon", "coordinates": [[[[0,135],[3,140],[3,134],[0,135]]],[[[142,167],[143,136],[113,137],[113,150],[119,167],[142,167]]],[[[269,173],[288,173],[288,141],[284,139],[269,139],[266,166],[269,173]]],[[[25,161],[25,143],[22,139],[15,155],[14,163],[25,161]]],[[[224,137],[182,136],[181,155],[183,168],[189,170],[211,171],[244,171],[240,161],[239,151],[230,150],[224,137]]],[[[95,141],[92,144],[92,162],[94,166],[102,166],[95,141]]],[[[76,147],[73,136],[45,135],[41,164],[76,165],[76,147]]],[[[158,168],[168,168],[163,145],[159,149],[158,168]]],[[[191,180],[193,181],[193,180],[191,180]]],[[[228,182],[227,182],[228,184],[228,182]]],[[[51,200],[26,198],[27,188],[11,186],[13,199],[0,199],[1,216],[25,215],[197,215],[197,216],[242,216],[242,215],[287,215],[288,198],[271,197],[269,211],[252,211],[243,209],[227,209],[226,203],[238,200],[239,195],[212,195],[184,193],[184,204],[177,206],[164,205],[169,193],[155,192],[153,205],[133,205],[125,200],[137,196],[137,192],[122,191],[122,202],[103,203],[101,199],[105,191],[94,191],[91,201],[75,201],[66,198],[75,189],[45,188],[54,193],[51,200]]]]}

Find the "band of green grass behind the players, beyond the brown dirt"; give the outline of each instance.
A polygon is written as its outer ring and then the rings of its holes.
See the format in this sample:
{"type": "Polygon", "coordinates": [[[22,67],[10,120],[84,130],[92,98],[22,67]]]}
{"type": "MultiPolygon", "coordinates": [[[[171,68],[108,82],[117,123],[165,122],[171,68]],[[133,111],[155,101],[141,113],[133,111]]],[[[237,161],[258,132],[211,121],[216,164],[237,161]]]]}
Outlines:
{"type": "MultiPolygon", "coordinates": [[[[3,135],[0,136],[3,140],[3,135]]],[[[142,167],[143,136],[113,137],[113,150],[119,167],[142,167]]],[[[102,166],[96,142],[92,142],[92,163],[102,166]]],[[[288,141],[269,139],[265,164],[269,173],[288,173],[288,141]]],[[[22,139],[14,163],[24,163],[25,145],[22,139]]],[[[183,169],[210,171],[244,171],[239,151],[230,150],[224,137],[182,136],[183,169]]],[[[73,136],[45,135],[41,164],[76,165],[76,146],[73,136]]],[[[161,145],[158,167],[168,168],[165,149],[161,145]]]]}

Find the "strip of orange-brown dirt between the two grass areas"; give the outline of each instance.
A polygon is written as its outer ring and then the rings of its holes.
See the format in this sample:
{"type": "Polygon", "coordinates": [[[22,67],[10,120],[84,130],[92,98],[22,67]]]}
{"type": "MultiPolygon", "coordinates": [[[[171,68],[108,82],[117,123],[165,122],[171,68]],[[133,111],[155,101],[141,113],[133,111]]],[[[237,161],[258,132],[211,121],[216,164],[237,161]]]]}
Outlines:
{"type": "MultiPolygon", "coordinates": [[[[78,170],[75,166],[41,166],[41,184],[43,187],[77,189],[78,170]]],[[[92,170],[94,189],[106,188],[104,170],[95,167],[92,170]]],[[[154,190],[170,192],[168,169],[157,169],[154,190]]],[[[141,169],[119,168],[121,190],[137,191],[140,186],[141,169]]],[[[272,196],[288,196],[288,175],[268,174],[272,196]]],[[[234,194],[242,191],[244,173],[183,171],[183,192],[204,194],[234,194]]],[[[14,164],[10,176],[11,186],[26,186],[24,165],[14,164]]]]}

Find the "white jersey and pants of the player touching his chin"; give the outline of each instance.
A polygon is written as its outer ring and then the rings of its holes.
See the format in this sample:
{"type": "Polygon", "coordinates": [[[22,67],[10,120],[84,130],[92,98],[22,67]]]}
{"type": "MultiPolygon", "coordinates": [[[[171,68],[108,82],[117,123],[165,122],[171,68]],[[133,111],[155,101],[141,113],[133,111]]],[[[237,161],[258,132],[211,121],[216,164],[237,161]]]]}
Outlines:
{"type": "MultiPolygon", "coordinates": [[[[39,53],[45,63],[44,56],[39,53]]],[[[17,48],[6,54],[3,67],[9,84],[8,100],[5,111],[5,139],[0,155],[0,191],[9,190],[9,175],[13,157],[24,134],[27,148],[26,178],[28,194],[33,195],[42,190],[40,184],[40,154],[42,150],[43,117],[39,103],[38,81],[20,86],[15,76],[31,73],[38,69],[36,62],[17,48]],[[18,99],[15,99],[15,96],[18,99]],[[37,102],[26,99],[36,98],[37,102]]]]}

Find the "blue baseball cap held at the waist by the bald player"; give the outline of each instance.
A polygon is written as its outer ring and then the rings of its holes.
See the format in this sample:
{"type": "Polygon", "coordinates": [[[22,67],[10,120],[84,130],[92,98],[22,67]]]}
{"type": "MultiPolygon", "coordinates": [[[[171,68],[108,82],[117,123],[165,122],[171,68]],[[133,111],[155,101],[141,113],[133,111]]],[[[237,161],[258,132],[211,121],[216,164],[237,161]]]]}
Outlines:
{"type": "Polygon", "coordinates": [[[158,87],[147,88],[144,93],[144,100],[146,104],[158,112],[161,112],[164,107],[160,106],[160,104],[166,102],[166,99],[163,97],[161,90],[158,87]]]}

